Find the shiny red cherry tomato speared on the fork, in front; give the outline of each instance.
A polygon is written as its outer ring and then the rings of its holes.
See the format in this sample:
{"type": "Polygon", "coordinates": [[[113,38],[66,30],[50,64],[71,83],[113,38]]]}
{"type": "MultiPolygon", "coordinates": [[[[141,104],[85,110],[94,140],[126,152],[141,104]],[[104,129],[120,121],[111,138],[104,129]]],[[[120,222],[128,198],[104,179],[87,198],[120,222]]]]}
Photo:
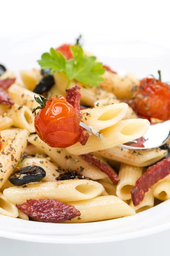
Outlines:
{"type": "Polygon", "coordinates": [[[44,108],[35,116],[37,135],[54,148],[74,145],[80,138],[80,117],[65,97],[59,96],[46,101],[44,108]]]}

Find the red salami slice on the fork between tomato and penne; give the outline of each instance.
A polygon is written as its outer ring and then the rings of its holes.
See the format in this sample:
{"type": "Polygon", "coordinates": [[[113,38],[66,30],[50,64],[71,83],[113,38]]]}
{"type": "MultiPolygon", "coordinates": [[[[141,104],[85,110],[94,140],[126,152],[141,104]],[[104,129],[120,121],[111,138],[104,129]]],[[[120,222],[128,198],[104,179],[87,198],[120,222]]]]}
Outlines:
{"type": "MultiPolygon", "coordinates": [[[[74,109],[77,111],[77,114],[81,116],[80,113],[80,98],[81,98],[81,93],[80,93],[80,87],[75,86],[70,89],[66,89],[66,100],[68,103],[70,103],[74,109]]],[[[88,140],[89,134],[88,131],[85,130],[85,128],[80,128],[81,136],[79,139],[79,143],[81,143],[83,146],[88,140]]]]}

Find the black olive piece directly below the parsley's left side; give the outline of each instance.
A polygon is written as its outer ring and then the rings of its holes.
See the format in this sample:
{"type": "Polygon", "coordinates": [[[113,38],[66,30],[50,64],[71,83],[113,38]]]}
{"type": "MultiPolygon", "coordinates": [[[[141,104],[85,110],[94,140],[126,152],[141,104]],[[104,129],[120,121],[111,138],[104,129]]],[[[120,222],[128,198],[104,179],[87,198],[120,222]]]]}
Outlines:
{"type": "Polygon", "coordinates": [[[50,90],[53,85],[54,85],[54,77],[52,75],[45,76],[36,85],[33,92],[38,94],[48,92],[48,90],[50,90]]]}

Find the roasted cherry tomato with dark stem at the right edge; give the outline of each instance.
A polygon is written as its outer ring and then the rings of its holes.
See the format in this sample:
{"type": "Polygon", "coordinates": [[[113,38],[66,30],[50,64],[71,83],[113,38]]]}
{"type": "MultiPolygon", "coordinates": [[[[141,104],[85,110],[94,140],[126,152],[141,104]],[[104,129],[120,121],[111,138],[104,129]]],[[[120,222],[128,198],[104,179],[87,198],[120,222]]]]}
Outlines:
{"type": "Polygon", "coordinates": [[[150,119],[170,119],[170,86],[153,78],[144,78],[140,82],[133,102],[133,109],[150,119]]]}

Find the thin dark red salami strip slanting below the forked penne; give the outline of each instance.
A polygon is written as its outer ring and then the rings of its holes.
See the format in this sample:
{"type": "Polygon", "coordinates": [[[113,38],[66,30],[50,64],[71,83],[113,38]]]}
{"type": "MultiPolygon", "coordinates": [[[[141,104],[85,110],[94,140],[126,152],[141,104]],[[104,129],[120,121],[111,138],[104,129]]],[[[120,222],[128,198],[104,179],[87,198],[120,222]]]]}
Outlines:
{"type": "Polygon", "coordinates": [[[88,163],[91,163],[99,168],[102,172],[105,172],[113,182],[113,185],[116,185],[119,182],[119,177],[107,165],[101,163],[94,156],[92,156],[91,154],[82,154],[80,156],[88,163]]]}

